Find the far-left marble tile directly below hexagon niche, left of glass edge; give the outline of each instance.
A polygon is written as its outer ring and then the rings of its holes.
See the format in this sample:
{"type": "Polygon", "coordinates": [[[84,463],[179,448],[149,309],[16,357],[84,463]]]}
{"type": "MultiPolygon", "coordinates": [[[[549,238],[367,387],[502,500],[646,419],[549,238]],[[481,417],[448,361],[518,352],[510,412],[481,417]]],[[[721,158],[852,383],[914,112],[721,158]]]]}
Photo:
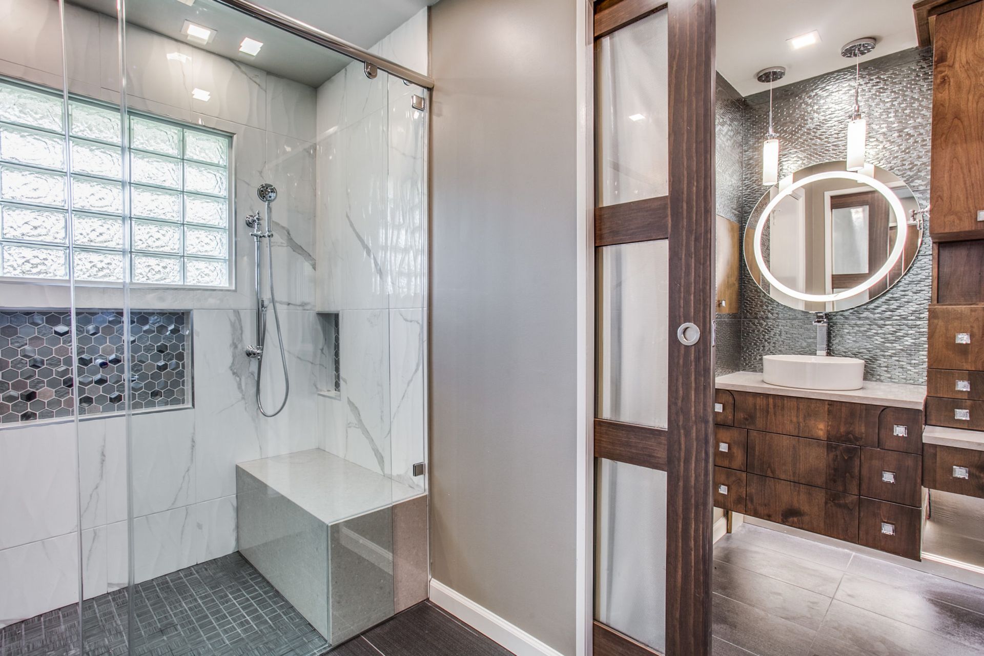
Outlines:
{"type": "Polygon", "coordinates": [[[0,549],[74,531],[76,494],[73,423],[0,431],[0,549]]]}

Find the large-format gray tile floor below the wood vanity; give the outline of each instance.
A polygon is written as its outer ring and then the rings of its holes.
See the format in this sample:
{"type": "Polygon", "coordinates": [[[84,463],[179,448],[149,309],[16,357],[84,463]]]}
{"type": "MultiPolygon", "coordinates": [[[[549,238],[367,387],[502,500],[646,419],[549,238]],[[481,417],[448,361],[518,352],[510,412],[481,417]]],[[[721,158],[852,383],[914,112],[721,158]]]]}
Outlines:
{"type": "Polygon", "coordinates": [[[984,590],[750,524],[714,546],[714,656],[984,654],[984,590]]]}

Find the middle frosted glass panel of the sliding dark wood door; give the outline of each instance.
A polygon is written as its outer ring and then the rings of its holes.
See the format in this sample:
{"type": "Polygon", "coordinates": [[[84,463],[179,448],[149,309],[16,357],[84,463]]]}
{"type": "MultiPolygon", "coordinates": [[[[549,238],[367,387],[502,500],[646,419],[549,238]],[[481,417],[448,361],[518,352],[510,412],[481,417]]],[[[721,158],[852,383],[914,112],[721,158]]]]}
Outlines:
{"type": "Polygon", "coordinates": [[[597,416],[666,428],[669,243],[598,249],[597,416]]]}

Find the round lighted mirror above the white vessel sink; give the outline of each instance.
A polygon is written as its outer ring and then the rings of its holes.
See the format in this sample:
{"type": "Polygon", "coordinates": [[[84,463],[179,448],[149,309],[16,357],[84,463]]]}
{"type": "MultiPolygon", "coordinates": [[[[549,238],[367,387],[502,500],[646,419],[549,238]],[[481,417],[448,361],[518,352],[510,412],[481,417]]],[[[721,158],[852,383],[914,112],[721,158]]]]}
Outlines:
{"type": "Polygon", "coordinates": [[[919,203],[897,176],[833,161],[800,169],[762,197],[745,227],[745,265],[770,298],[807,312],[884,294],[922,243],[919,203]]]}

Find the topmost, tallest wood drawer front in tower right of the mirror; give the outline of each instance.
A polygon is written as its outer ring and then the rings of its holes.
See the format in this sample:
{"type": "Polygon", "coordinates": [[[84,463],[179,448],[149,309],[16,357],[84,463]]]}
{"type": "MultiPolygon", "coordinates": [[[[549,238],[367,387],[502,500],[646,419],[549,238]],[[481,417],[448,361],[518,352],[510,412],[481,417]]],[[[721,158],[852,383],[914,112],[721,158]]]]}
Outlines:
{"type": "Polygon", "coordinates": [[[982,328],[984,306],[931,305],[928,353],[930,369],[984,371],[982,328]]]}

